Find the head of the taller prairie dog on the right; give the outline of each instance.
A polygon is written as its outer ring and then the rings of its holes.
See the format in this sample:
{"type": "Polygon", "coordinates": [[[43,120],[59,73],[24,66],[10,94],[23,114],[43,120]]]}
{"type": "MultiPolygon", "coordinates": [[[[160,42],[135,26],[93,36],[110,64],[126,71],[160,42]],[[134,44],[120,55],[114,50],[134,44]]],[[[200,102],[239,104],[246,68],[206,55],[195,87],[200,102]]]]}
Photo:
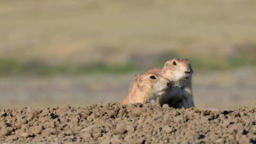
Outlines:
{"type": "Polygon", "coordinates": [[[192,67],[188,59],[174,58],[165,63],[162,74],[171,81],[191,81],[192,67]]]}

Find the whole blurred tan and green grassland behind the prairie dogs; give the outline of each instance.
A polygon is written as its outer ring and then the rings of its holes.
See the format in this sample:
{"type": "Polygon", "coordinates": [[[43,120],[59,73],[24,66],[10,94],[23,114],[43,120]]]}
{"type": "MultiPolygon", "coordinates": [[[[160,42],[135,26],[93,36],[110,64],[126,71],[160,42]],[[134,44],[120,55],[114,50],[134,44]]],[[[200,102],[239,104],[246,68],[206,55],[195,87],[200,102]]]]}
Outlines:
{"type": "Polygon", "coordinates": [[[189,58],[198,107],[256,103],[255,0],[2,0],[0,108],[118,101],[189,58]]]}

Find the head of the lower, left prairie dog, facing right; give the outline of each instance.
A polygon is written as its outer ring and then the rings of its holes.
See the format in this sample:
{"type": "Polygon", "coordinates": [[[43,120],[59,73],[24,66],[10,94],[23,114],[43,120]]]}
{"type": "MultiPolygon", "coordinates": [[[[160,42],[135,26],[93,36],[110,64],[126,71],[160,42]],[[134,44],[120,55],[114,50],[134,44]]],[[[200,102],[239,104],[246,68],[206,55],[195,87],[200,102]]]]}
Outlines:
{"type": "Polygon", "coordinates": [[[163,95],[171,86],[171,82],[159,73],[149,72],[136,76],[137,86],[147,98],[163,95]]]}

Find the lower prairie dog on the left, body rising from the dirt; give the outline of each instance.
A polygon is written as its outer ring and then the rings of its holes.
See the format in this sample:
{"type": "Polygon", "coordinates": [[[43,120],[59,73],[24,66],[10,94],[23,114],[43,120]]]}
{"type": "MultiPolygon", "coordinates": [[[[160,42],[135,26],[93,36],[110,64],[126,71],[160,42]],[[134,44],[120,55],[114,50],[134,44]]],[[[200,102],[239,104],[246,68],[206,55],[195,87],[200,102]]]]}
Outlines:
{"type": "Polygon", "coordinates": [[[128,96],[119,103],[147,103],[152,99],[155,102],[157,97],[165,95],[170,86],[170,81],[160,73],[147,72],[137,75],[131,85],[128,96]]]}

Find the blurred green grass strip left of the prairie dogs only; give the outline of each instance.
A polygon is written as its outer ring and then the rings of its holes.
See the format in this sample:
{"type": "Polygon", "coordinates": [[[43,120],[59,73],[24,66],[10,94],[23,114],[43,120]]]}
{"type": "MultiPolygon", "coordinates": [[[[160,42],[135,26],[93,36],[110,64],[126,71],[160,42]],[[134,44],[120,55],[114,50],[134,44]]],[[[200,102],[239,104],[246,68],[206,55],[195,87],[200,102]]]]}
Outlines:
{"type": "Polygon", "coordinates": [[[137,67],[133,63],[106,65],[92,63],[89,65],[68,63],[46,65],[43,63],[21,63],[12,59],[0,59],[0,76],[12,75],[38,75],[54,74],[81,75],[81,74],[125,74],[133,72],[137,67]]]}

